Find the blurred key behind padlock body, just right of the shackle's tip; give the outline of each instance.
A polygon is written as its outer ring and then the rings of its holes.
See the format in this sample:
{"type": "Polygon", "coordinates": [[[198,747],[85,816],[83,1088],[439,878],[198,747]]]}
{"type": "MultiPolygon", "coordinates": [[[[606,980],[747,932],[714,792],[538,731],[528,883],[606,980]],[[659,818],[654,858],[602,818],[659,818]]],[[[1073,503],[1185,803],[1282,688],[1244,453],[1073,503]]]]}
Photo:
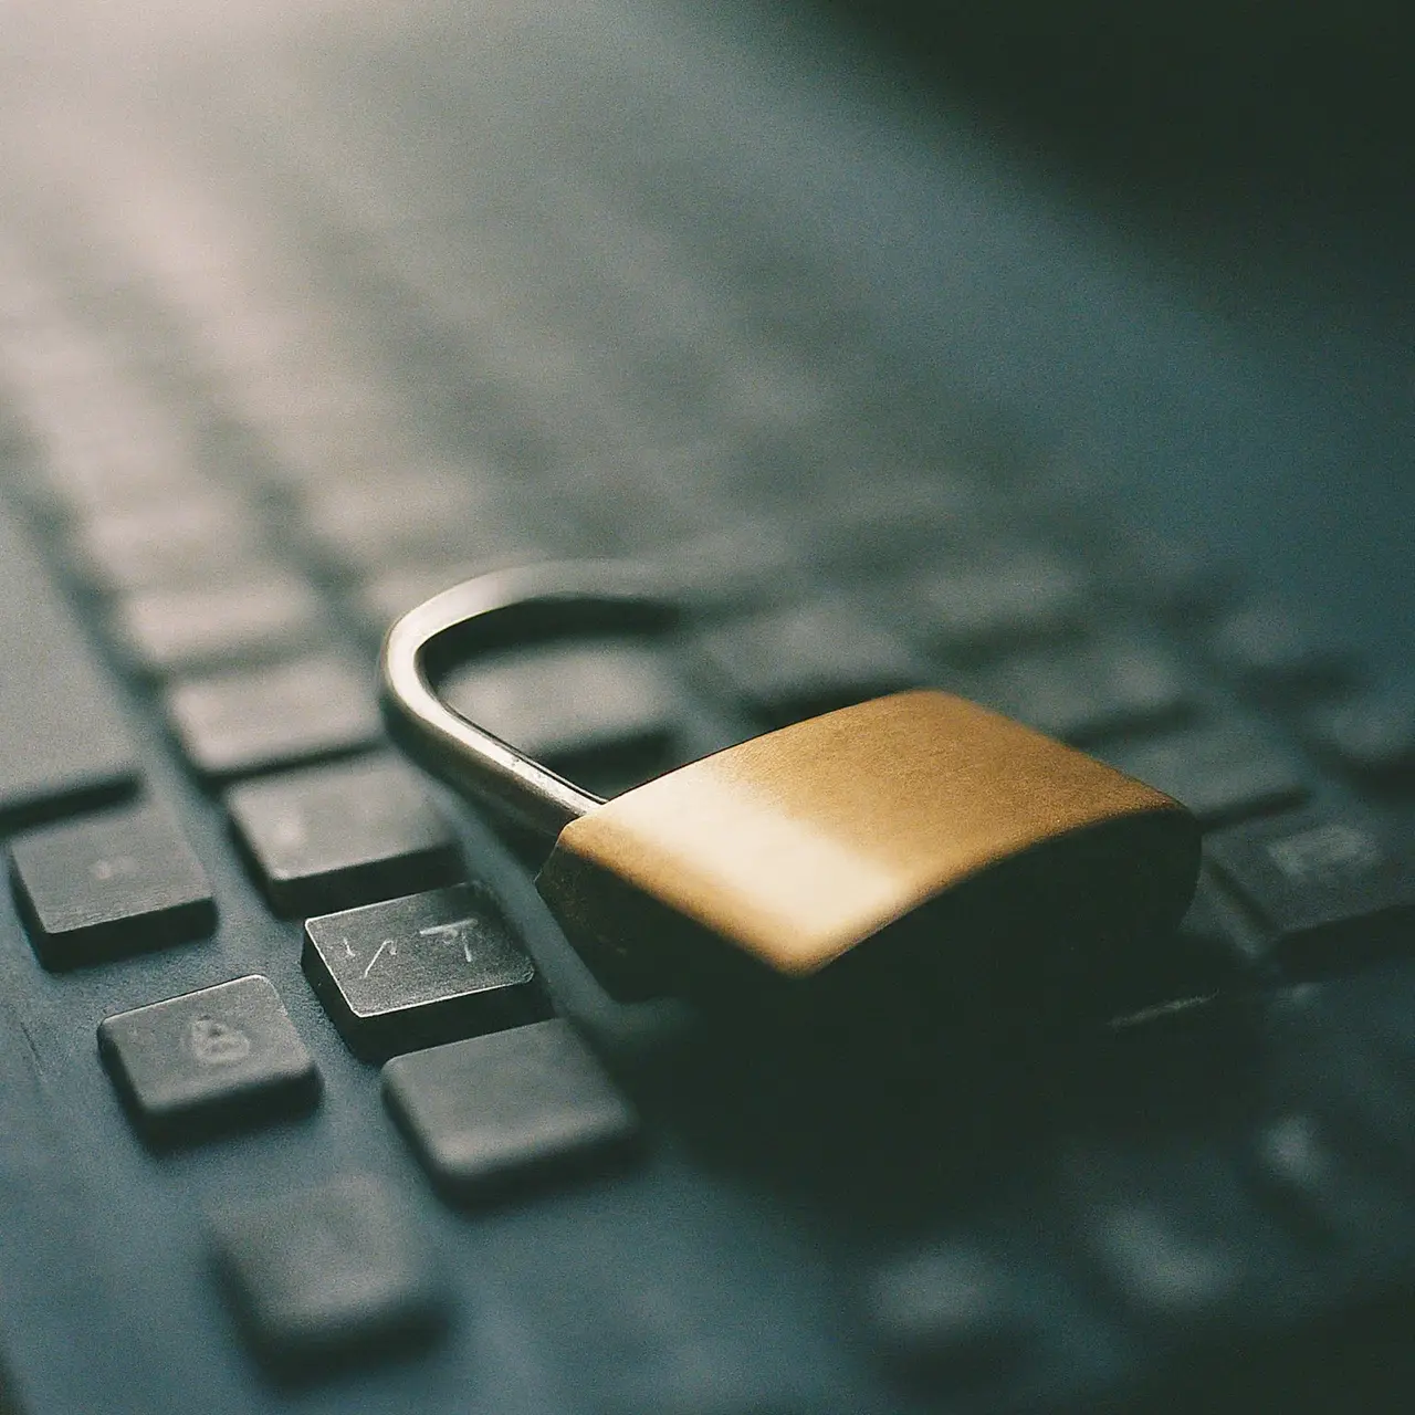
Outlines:
{"type": "Polygon", "coordinates": [[[910,652],[843,601],[818,601],[739,620],[696,644],[734,696],[771,724],[920,682],[910,652]]]}

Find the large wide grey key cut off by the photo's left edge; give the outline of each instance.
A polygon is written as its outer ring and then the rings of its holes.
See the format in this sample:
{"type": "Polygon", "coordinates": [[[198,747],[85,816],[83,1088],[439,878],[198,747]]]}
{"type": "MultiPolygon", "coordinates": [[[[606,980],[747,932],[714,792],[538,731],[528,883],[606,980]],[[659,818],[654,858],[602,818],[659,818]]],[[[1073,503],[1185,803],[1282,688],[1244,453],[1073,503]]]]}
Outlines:
{"type": "Polygon", "coordinates": [[[0,516],[0,829],[116,801],[137,777],[113,689],[0,516]]]}

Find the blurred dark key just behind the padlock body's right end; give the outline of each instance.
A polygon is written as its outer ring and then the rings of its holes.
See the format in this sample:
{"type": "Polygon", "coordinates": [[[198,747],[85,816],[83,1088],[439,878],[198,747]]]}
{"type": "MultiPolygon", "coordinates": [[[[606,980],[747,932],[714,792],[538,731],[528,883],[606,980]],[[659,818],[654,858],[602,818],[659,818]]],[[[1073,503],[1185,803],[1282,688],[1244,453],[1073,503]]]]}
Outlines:
{"type": "Polygon", "coordinates": [[[1104,757],[1183,801],[1206,825],[1276,811],[1307,794],[1293,760],[1271,737],[1241,724],[1172,733],[1104,757]]]}

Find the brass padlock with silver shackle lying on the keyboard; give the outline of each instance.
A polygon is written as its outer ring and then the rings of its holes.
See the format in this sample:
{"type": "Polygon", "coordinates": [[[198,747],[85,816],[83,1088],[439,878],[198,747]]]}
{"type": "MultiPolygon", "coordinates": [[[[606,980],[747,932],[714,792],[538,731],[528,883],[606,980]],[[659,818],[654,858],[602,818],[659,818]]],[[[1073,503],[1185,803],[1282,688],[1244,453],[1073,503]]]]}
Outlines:
{"type": "Polygon", "coordinates": [[[672,614],[601,566],[505,572],[429,600],[383,645],[395,740],[550,843],[536,886],[616,996],[884,981],[966,1005],[1016,989],[1104,990],[1184,913],[1199,872],[1189,811],[951,693],[828,712],[610,801],[439,695],[447,669],[478,649],[644,631],[672,614]]]}

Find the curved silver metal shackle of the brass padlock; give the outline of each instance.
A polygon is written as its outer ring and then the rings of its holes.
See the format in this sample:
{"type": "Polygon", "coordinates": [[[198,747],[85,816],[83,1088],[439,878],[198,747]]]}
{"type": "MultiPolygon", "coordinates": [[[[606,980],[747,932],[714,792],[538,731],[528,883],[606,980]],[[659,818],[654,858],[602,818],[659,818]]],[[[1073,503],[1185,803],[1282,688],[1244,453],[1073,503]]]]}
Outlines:
{"type": "Polygon", "coordinates": [[[491,648],[579,633],[652,631],[676,617],[672,599],[633,566],[548,565],[466,580],[389,628],[379,655],[383,722],[393,741],[432,775],[553,843],[603,798],[456,712],[437,681],[491,648]]]}

